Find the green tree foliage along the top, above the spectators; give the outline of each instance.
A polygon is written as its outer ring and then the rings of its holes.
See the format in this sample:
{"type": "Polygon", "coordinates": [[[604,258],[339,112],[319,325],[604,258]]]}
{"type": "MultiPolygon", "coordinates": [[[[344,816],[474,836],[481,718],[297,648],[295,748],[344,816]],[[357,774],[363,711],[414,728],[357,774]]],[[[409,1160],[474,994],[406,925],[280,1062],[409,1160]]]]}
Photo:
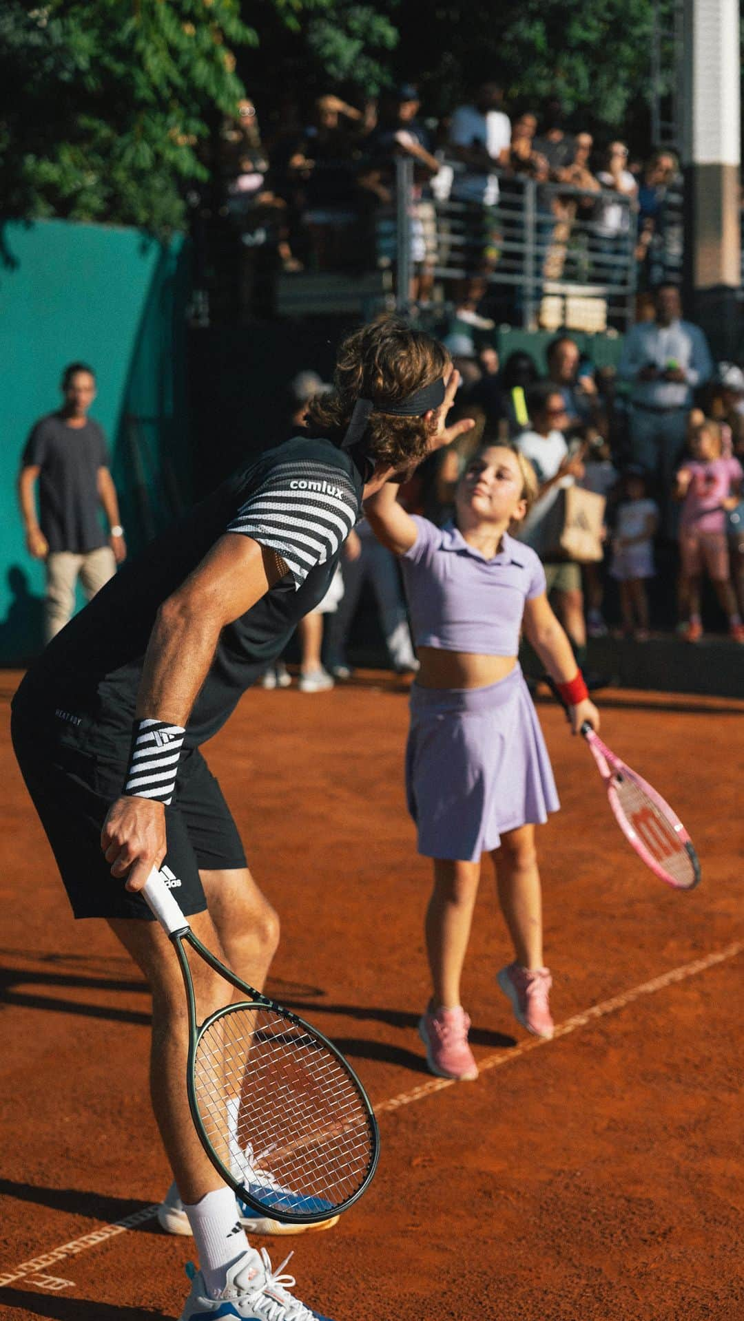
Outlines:
{"type": "MultiPolygon", "coordinates": [[[[670,26],[674,0],[661,0],[670,26]]],[[[419,83],[444,115],[485,78],[507,106],[558,92],[574,123],[648,139],[654,0],[3,0],[0,207],[164,234],[243,81],[283,92],[419,83]],[[250,26],[248,26],[250,20],[250,26]]]]}

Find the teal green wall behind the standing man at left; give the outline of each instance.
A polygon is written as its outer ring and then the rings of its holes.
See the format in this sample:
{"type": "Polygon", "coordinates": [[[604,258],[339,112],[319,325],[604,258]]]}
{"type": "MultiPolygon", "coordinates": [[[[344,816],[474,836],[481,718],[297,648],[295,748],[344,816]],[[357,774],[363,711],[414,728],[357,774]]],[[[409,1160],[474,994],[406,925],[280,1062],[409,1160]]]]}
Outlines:
{"type": "Polygon", "coordinates": [[[185,425],[188,251],[135,230],[66,221],[0,234],[0,664],[38,649],[44,568],[25,550],[16,501],[33,423],[59,406],[66,363],[98,378],[95,417],[110,441],[132,550],[189,498],[185,425]]]}

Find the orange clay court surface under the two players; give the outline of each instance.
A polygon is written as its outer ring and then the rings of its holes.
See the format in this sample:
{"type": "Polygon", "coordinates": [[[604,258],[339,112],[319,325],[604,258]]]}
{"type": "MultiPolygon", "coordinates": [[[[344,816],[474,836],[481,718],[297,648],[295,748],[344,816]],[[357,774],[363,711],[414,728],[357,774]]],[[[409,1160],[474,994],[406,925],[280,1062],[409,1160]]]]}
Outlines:
{"type": "MultiPolygon", "coordinates": [[[[148,1215],[170,1180],[148,996],[106,926],[70,915],[12,758],[17,678],[0,676],[0,1314],[164,1321],[193,1246],[148,1215]]],[[[437,1086],[416,1034],[429,864],[403,801],[404,687],[366,671],[329,694],[254,691],[207,748],[281,914],[268,989],[336,1041],[379,1110],[366,1197],[329,1232],[256,1240],[275,1266],[295,1247],[297,1296],[334,1321],[744,1317],[744,703],[600,705],[609,745],[690,830],[703,884],[681,894],[645,871],[588,749],[539,701],[563,804],[538,843],[566,1030],[537,1044],[497,991],[510,948],[484,871],[465,1003],[486,1067],[460,1085],[437,1086]]]]}

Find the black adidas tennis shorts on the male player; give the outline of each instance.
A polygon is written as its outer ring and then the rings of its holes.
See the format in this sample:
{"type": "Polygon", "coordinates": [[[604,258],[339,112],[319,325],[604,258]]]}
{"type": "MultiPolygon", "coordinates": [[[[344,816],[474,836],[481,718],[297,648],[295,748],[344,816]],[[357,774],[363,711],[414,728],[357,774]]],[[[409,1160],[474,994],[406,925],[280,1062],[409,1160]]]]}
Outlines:
{"type": "MultiPolygon", "coordinates": [[[[127,753],[98,756],[45,738],[13,711],[13,748],[28,791],[67,890],[75,917],[145,918],[152,913],[140,894],[131,894],[111,876],[100,851],[100,831],[127,774],[127,753]]],[[[206,909],[200,868],[230,871],[246,867],[246,855],[230,808],[201,752],[181,757],[176,795],[165,808],[173,897],[184,913],[206,909]]]]}

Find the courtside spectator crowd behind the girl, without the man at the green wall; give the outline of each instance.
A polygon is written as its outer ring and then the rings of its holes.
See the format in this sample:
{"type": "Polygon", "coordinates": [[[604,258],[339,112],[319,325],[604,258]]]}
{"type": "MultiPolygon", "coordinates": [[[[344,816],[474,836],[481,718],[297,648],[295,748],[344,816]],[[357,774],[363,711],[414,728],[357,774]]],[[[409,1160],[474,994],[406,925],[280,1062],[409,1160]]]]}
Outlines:
{"type": "MultiPolygon", "coordinates": [[[[547,345],[544,375],[527,351],[501,363],[488,343],[476,361],[455,353],[453,362],[463,375],[456,413],[476,427],[402,489],[410,511],[447,523],[473,450],[486,441],[511,444],[538,478],[538,498],[515,535],[543,560],[548,593],[583,667],[588,637],[612,633],[645,643],[651,630],[675,629],[681,641],[696,643],[703,616],[712,631],[725,627],[732,642],[744,642],[744,371],[712,362],[703,332],[683,318],[674,285],[655,292],[650,317],[626,336],[616,369],[597,370],[567,333],[547,345]],[[568,491],[577,522],[588,524],[572,542],[568,491]]],[[[295,378],[295,427],[309,398],[329,388],[315,373],[295,378]]],[[[348,645],[365,579],[390,664],[398,672],[416,668],[396,565],[366,523],[357,532],[312,653],[300,638],[301,691],[349,678],[348,645]]],[[[589,670],[592,678],[599,682],[589,670]]],[[[279,668],[266,686],[289,682],[279,668]]]]}

